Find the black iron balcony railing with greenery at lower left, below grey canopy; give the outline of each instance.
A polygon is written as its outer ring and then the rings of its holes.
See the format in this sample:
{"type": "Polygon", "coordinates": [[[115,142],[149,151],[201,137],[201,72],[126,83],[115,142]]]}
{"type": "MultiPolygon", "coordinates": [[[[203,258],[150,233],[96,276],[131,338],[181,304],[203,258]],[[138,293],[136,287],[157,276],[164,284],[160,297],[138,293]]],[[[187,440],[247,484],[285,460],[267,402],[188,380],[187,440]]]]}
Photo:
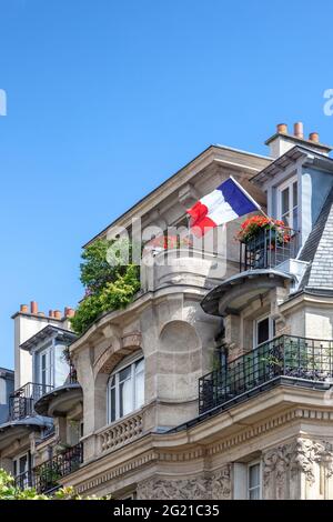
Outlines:
{"type": "Polygon", "coordinates": [[[33,469],[33,486],[40,493],[58,488],[58,482],[80,468],[83,462],[83,444],[79,443],[33,469]]]}

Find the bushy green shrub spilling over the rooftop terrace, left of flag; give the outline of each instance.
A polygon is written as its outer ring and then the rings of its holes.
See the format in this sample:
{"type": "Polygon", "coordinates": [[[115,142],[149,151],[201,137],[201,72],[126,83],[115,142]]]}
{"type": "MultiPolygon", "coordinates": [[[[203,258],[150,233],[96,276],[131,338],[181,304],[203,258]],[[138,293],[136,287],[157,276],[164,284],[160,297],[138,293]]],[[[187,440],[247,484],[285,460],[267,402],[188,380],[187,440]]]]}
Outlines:
{"type": "Polygon", "coordinates": [[[125,241],[97,240],[82,253],[81,282],[85,298],[79,304],[71,325],[82,334],[102,313],[127,307],[140,289],[139,267],[131,264],[123,252],[131,249],[125,241]],[[114,245],[120,247],[118,250],[114,245]],[[110,264],[110,260],[119,264],[110,264]]]}

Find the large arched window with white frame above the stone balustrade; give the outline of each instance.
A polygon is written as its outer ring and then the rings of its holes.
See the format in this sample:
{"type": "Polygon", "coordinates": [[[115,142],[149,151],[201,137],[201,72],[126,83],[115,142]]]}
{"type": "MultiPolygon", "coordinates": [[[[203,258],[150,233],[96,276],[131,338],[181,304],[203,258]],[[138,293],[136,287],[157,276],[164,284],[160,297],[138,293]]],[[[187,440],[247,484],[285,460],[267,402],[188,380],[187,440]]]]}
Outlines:
{"type": "Polygon", "coordinates": [[[111,373],[108,382],[108,422],[114,422],[144,403],[144,359],[127,359],[111,373]]]}

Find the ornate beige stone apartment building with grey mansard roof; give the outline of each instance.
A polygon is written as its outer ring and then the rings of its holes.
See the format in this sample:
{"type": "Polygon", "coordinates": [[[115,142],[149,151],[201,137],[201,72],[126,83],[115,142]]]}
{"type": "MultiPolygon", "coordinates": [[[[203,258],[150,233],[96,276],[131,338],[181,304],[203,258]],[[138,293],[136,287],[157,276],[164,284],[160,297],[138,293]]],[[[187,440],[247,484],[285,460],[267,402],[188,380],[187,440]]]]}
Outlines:
{"type": "MultiPolygon", "coordinates": [[[[141,267],[124,310],[77,338],[65,310],[22,307],[0,463],[19,485],[117,499],[333,499],[333,160],[303,126],[268,157],[212,145],[121,215],[162,230],[231,174],[290,228],[220,257],[141,267]],[[68,352],[70,353],[70,367],[68,352]],[[31,382],[32,384],[27,384],[31,382]],[[21,459],[21,461],[20,461],[21,459]]],[[[97,238],[91,240],[94,241],[97,238]]]]}

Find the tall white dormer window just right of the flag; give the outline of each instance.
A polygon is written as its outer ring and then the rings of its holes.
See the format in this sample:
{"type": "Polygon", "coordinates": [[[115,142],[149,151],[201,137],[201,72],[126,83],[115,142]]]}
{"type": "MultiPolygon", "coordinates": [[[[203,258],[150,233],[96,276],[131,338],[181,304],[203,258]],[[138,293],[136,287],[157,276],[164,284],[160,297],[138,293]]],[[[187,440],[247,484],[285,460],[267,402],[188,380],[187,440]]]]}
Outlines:
{"type": "Polygon", "coordinates": [[[278,218],[293,230],[299,228],[297,178],[278,188],[278,218]]]}

